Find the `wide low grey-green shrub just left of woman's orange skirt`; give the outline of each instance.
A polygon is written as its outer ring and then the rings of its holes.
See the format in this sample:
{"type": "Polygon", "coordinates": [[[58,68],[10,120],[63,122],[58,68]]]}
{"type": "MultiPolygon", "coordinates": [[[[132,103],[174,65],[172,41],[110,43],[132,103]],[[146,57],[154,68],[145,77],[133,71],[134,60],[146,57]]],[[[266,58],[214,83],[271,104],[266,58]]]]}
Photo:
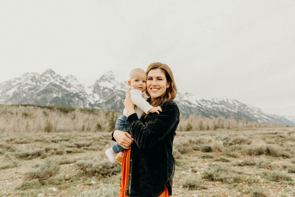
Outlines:
{"type": "Polygon", "coordinates": [[[80,160],[76,162],[75,165],[79,170],[88,175],[108,176],[121,171],[121,166],[112,164],[107,160],[80,160]]]}

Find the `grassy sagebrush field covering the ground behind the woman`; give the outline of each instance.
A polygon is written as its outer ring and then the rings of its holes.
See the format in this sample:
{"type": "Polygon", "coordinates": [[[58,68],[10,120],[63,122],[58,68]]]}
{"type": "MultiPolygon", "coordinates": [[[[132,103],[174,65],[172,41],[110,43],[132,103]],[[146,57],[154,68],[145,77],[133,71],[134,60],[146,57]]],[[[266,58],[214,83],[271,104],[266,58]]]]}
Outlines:
{"type": "MultiPolygon", "coordinates": [[[[109,132],[6,133],[0,196],[118,196],[109,132]]],[[[177,131],[173,196],[295,196],[295,128],[177,131]]]]}

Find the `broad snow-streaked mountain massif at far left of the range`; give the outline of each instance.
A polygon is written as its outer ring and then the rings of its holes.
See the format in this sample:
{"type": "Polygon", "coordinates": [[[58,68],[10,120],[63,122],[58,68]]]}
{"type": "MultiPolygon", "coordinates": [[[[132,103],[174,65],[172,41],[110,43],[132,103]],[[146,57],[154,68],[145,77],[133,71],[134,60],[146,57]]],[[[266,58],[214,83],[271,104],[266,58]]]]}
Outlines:
{"type": "Polygon", "coordinates": [[[76,77],[62,77],[51,69],[41,75],[25,73],[0,84],[0,102],[90,108],[84,86],[76,77]]]}

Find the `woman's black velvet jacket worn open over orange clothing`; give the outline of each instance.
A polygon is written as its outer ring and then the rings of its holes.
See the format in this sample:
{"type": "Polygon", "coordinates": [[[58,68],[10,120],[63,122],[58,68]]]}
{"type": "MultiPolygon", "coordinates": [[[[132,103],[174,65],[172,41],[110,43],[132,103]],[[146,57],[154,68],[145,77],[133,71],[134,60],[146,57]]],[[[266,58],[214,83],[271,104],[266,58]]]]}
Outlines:
{"type": "MultiPolygon", "coordinates": [[[[172,195],[175,171],[172,146],[179,123],[179,108],[174,101],[164,103],[161,108],[159,115],[149,113],[139,120],[134,113],[126,120],[134,139],[130,152],[127,196],[157,197],[166,186],[172,195]]],[[[112,140],[115,141],[113,137],[112,140]]]]}

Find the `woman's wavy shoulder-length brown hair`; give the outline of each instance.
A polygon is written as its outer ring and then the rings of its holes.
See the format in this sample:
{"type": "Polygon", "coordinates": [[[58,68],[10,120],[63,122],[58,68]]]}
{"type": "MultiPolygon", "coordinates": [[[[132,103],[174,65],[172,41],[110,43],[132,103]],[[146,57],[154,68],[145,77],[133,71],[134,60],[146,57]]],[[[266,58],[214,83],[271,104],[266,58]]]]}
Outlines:
{"type": "MultiPolygon", "coordinates": [[[[151,100],[151,98],[147,100],[150,103],[150,105],[157,107],[157,106],[162,106],[165,102],[174,100],[176,97],[177,89],[174,82],[172,71],[169,68],[169,66],[159,62],[152,63],[150,64],[150,66],[148,66],[147,74],[150,72],[150,70],[153,70],[153,69],[161,69],[166,76],[167,83],[170,84],[170,86],[166,89],[166,94],[164,94],[163,96],[154,98],[153,101],[151,100]]],[[[148,90],[146,90],[145,93],[148,96],[150,95],[148,93],[148,90]]]]}

